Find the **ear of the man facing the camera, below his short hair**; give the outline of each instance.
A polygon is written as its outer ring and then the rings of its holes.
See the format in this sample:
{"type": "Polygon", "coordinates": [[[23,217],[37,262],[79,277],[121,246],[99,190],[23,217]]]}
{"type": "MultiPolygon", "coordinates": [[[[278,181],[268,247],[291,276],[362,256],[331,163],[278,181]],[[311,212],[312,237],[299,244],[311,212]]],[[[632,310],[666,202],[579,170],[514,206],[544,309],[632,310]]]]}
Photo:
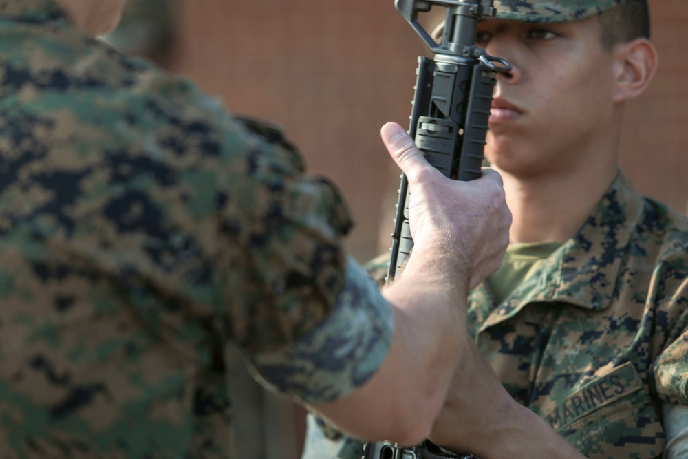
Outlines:
{"type": "Polygon", "coordinates": [[[613,52],[612,100],[619,103],[643,94],[657,69],[654,45],[648,39],[638,38],[616,45],[613,52]]]}

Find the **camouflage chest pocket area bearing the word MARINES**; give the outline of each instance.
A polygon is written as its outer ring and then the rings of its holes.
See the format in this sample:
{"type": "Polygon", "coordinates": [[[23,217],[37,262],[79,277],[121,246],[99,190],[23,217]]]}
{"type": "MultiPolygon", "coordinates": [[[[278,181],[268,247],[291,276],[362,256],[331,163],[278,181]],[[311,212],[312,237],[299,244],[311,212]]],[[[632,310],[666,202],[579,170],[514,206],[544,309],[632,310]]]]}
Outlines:
{"type": "Polygon", "coordinates": [[[590,459],[653,459],[664,429],[638,372],[627,362],[574,392],[543,416],[590,459]]]}

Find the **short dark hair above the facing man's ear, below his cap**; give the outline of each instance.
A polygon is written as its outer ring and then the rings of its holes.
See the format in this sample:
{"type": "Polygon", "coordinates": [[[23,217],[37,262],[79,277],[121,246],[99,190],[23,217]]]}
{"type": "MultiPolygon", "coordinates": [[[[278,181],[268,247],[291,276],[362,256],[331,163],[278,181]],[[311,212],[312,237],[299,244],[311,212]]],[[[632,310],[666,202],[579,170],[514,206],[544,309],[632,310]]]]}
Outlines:
{"type": "Polygon", "coordinates": [[[649,10],[646,0],[624,0],[599,15],[602,46],[606,50],[619,43],[649,39],[649,10]]]}

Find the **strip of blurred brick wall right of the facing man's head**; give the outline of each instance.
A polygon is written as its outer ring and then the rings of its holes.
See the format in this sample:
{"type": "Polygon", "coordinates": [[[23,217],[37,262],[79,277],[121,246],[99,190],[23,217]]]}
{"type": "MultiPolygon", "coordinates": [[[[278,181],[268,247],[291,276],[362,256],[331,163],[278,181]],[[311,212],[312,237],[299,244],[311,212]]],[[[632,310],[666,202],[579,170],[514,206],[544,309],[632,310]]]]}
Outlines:
{"type": "Polygon", "coordinates": [[[658,72],[627,106],[621,164],[642,193],[688,212],[688,1],[649,0],[658,72]]]}

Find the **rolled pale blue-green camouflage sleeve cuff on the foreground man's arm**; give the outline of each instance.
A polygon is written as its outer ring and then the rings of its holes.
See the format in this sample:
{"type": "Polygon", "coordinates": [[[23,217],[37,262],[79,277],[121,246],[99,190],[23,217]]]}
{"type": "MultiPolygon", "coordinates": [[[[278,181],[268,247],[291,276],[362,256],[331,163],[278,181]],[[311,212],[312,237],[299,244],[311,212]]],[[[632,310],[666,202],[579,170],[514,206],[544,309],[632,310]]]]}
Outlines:
{"type": "Polygon", "coordinates": [[[332,313],[296,343],[252,354],[259,379],[305,403],[343,398],[382,365],[391,345],[391,306],[352,259],[332,313]]]}

